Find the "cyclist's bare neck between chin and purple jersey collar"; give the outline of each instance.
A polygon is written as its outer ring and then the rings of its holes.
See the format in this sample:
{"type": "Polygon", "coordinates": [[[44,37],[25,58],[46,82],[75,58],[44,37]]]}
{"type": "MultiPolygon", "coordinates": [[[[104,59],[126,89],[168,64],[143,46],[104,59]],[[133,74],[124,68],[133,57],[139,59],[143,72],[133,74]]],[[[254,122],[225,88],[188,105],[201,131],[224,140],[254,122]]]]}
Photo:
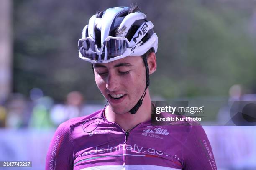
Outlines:
{"type": "Polygon", "coordinates": [[[125,131],[132,129],[141,122],[146,122],[150,120],[151,98],[148,89],[146,90],[146,96],[143,99],[141,107],[135,114],[131,114],[130,112],[124,114],[116,114],[109,106],[107,106],[105,116],[108,121],[119,124],[120,127],[122,127],[125,131]]]}

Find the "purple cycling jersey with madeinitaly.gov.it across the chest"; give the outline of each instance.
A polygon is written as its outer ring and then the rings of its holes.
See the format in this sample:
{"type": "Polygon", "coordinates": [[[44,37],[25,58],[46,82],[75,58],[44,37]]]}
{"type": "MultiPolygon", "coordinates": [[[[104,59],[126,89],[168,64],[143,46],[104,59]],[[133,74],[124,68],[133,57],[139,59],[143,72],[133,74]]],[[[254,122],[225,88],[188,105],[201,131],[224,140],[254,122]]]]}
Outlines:
{"type": "Polygon", "coordinates": [[[70,119],[56,130],[46,170],[217,170],[210,142],[200,125],[151,121],[125,132],[102,111],[70,119]],[[95,119],[94,119],[95,118],[95,119]],[[100,124],[97,129],[92,131],[100,124]]]}

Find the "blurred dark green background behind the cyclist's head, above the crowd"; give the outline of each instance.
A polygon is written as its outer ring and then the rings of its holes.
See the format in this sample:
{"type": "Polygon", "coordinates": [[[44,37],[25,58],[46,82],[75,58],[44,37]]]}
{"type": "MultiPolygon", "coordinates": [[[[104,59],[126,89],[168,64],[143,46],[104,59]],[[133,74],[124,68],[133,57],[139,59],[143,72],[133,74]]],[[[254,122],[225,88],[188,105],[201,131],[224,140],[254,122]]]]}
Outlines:
{"type": "Polygon", "coordinates": [[[63,101],[77,90],[101,100],[77,40],[97,11],[130,5],[139,5],[159,37],[152,96],[228,96],[233,84],[254,91],[255,0],[14,0],[13,92],[38,87],[63,101]]]}

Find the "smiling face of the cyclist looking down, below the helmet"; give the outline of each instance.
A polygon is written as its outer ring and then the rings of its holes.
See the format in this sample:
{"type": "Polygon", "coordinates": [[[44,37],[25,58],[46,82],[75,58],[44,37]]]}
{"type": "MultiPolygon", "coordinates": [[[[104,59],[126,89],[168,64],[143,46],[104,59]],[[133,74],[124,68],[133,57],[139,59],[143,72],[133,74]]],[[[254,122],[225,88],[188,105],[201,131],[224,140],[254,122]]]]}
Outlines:
{"type": "Polygon", "coordinates": [[[146,69],[141,56],[128,56],[110,63],[94,64],[95,81],[110,109],[129,112],[146,87],[146,69]]]}

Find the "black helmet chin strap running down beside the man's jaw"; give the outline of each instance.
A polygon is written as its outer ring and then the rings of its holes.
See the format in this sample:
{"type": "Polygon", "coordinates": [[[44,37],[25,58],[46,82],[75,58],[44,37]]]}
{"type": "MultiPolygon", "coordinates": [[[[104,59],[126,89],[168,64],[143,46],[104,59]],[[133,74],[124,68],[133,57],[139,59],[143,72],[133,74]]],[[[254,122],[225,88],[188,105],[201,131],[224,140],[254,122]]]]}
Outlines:
{"type": "Polygon", "coordinates": [[[135,106],[134,106],[133,108],[131,108],[131,110],[129,111],[131,114],[135,114],[135,113],[138,111],[138,109],[141,107],[142,101],[143,101],[143,99],[144,99],[144,97],[145,97],[145,95],[146,95],[146,90],[147,90],[147,88],[148,88],[148,86],[149,86],[148,61],[147,61],[147,58],[146,58],[146,55],[145,55],[145,54],[142,56],[142,58],[143,58],[144,65],[145,65],[145,67],[146,67],[146,88],[145,88],[145,90],[144,90],[144,92],[143,92],[141,98],[139,99],[139,101],[138,101],[138,102],[135,104],[135,106]]]}

